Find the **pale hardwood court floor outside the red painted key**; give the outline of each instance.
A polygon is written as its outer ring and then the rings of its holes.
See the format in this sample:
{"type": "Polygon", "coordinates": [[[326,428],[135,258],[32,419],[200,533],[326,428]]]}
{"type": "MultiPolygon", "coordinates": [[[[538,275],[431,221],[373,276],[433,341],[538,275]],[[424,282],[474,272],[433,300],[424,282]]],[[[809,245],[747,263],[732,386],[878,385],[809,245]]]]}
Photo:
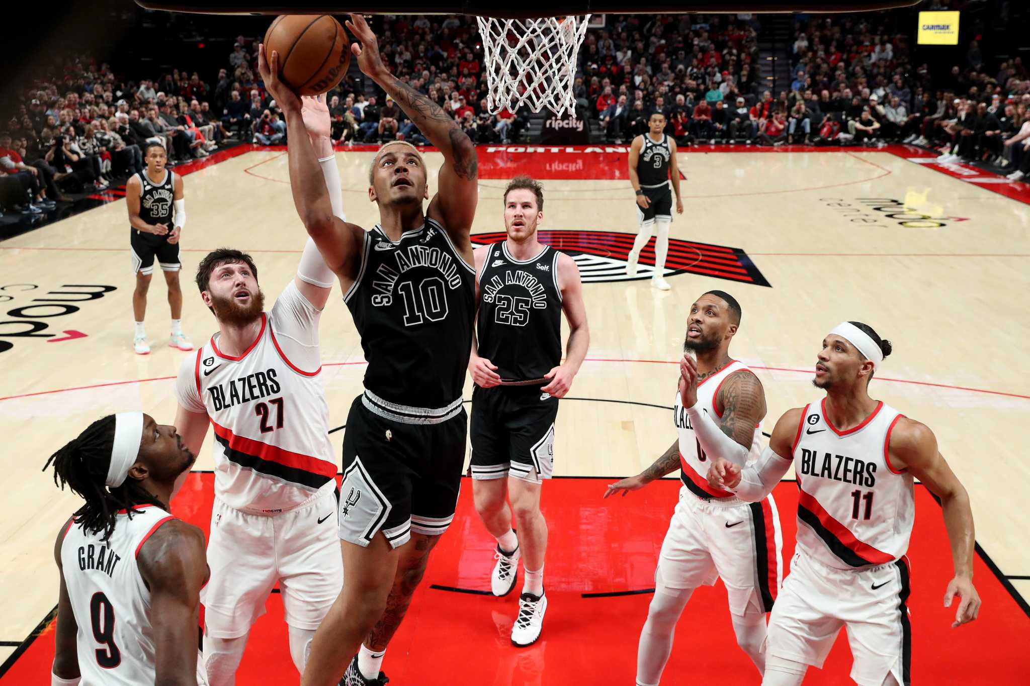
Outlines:
{"type": "MultiPolygon", "coordinates": [[[[661,408],[672,404],[685,314],[706,290],[727,290],[743,305],[731,352],[765,386],[766,431],[787,408],[819,397],[810,374],[822,336],[840,320],[865,321],[895,350],[873,396],[935,431],[971,494],[984,552],[1030,597],[1030,467],[1019,438],[1030,419],[1022,362],[1030,333],[1030,208],[1023,202],[1030,187],[925,164],[915,148],[692,150],[680,159],[686,212],[672,228],[674,290],[660,293],[619,276],[637,230],[625,150],[480,148],[474,232],[503,231],[504,185],[531,174],[545,183],[547,240],[579,254],[587,281],[591,348],[558,416],[556,473],[626,475],[667,447],[675,433],[661,408]]],[[[239,152],[185,177],[183,323],[197,345],[213,330],[190,284],[206,251],[249,250],[271,301],[305,241],[284,151],[239,152]]],[[[348,218],[367,227],[377,219],[365,182],[371,154],[337,155],[348,218]]],[[[431,152],[426,160],[435,170],[441,157],[431,152]]],[[[153,352],[132,354],[127,233],[116,201],[0,243],[0,468],[19,484],[0,504],[0,554],[11,563],[0,592],[15,599],[0,617],[2,651],[13,651],[56,603],[53,542],[77,505],[39,471],[46,457],[103,413],[142,408],[159,421],[174,417],[172,384],[184,354],[166,345],[160,277],[147,317],[153,352]],[[87,299],[91,293],[102,296],[87,299]]],[[[331,421],[340,426],[364,362],[338,297],[322,317],[321,345],[331,421]]],[[[342,433],[333,434],[337,449],[342,433]]],[[[198,469],[212,466],[209,444],[198,469]]],[[[591,519],[583,507],[585,536],[591,519]]],[[[792,517],[788,507],[781,513],[785,523],[792,517]]],[[[939,521],[939,512],[922,507],[919,517],[939,521]]],[[[660,540],[664,521],[647,537],[660,540]]],[[[461,536],[448,534],[454,545],[461,536]]],[[[942,540],[926,554],[924,567],[950,568],[942,540]]],[[[976,581],[993,582],[986,574],[976,581]]],[[[943,592],[938,585],[934,593],[943,592]]],[[[981,621],[996,616],[988,605],[981,621]]],[[[625,627],[633,636],[638,619],[625,627]]]]}

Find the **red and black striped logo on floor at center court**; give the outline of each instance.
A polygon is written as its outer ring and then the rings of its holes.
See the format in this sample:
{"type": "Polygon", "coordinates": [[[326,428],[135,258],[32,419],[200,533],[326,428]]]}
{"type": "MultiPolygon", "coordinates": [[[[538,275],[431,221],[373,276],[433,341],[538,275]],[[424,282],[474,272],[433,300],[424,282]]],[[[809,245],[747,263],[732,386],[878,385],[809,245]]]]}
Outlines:
{"type": "MultiPolygon", "coordinates": [[[[637,276],[626,276],[626,260],[633,247],[636,233],[618,231],[540,231],[540,242],[570,255],[576,260],[584,282],[639,281],[654,275],[654,239],[641,251],[637,276]]],[[[500,243],[504,231],[476,233],[475,245],[500,243]]],[[[769,286],[748,254],[740,248],[714,246],[679,239],[668,240],[668,256],[663,276],[698,274],[726,279],[742,284],[769,286]]]]}

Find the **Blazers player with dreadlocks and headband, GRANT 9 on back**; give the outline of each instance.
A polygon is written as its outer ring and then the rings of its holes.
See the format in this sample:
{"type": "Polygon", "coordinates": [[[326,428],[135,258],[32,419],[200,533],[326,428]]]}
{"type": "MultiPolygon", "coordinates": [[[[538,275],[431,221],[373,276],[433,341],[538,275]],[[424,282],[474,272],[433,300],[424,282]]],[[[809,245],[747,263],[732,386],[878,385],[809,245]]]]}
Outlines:
{"type": "Polygon", "coordinates": [[[109,414],[46,462],[85,503],[62,528],[54,686],[205,684],[198,672],[204,534],[168,503],[195,456],[174,427],[109,414]]]}

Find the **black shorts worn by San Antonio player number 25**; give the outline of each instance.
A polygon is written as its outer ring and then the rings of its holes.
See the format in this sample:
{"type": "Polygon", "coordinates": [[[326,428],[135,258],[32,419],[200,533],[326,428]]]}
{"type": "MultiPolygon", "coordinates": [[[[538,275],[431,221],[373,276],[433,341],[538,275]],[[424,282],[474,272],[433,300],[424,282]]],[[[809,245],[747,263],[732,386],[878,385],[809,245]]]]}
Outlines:
{"type": "Polygon", "coordinates": [[[540,387],[476,387],[472,392],[472,478],[540,483],[554,471],[558,399],[540,387]]]}

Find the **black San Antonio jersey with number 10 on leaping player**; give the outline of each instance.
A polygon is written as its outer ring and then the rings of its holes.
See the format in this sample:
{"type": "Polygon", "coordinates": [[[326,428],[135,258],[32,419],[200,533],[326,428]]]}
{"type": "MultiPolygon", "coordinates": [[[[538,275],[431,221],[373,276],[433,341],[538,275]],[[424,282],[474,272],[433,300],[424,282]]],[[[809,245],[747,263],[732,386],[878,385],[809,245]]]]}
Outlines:
{"type": "Polygon", "coordinates": [[[344,301],[362,336],[365,388],[389,402],[444,407],[461,397],[472,348],[476,269],[426,218],[393,243],[377,224],[344,301]]]}

